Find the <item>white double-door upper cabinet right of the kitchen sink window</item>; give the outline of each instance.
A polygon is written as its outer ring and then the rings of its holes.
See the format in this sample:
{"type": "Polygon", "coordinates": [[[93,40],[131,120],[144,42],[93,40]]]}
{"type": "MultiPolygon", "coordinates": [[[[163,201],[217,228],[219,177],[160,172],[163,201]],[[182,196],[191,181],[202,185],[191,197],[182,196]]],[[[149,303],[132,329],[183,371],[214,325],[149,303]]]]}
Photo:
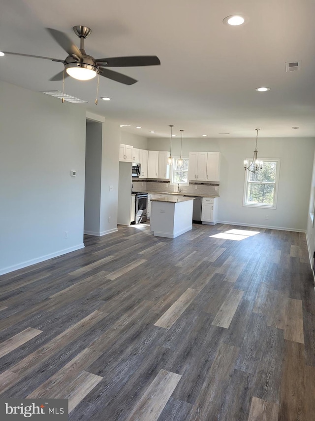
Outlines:
{"type": "Polygon", "coordinates": [[[190,181],[219,181],[220,152],[189,152],[190,181]]]}

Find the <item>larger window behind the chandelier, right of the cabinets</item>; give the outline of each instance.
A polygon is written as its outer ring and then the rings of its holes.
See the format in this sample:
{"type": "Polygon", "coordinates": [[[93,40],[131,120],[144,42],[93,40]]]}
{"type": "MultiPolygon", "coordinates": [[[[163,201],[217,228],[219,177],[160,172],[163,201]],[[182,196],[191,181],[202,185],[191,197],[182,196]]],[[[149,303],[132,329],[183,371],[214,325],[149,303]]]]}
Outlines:
{"type": "MultiPolygon", "coordinates": [[[[261,159],[262,169],[245,171],[244,206],[276,209],[280,159],[261,159]]],[[[249,159],[251,162],[251,159],[249,159]]]]}

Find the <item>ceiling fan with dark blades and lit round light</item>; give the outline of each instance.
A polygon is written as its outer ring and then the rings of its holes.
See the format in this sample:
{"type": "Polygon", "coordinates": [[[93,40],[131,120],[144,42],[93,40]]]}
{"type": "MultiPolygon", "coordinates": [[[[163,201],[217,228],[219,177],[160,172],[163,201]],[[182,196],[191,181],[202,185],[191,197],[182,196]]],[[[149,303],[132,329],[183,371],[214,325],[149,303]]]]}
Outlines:
{"type": "Polygon", "coordinates": [[[126,56],[126,57],[110,57],[95,59],[86,54],[84,50],[84,39],[91,34],[91,29],[87,26],[77,25],[73,27],[74,33],[80,38],[80,49],[73,44],[70,38],[61,31],[46,28],[50,35],[58,42],[58,44],[68,53],[65,60],[59,60],[51,57],[34,56],[30,54],[12,53],[3,51],[4,54],[14,54],[24,57],[41,58],[63,63],[64,71],[51,77],[49,80],[62,80],[64,76],[71,76],[78,80],[89,80],[100,75],[116,82],[132,85],[137,80],[132,77],[123,75],[107,67],[129,67],[129,66],[155,66],[160,61],[157,56],[126,56]]]}

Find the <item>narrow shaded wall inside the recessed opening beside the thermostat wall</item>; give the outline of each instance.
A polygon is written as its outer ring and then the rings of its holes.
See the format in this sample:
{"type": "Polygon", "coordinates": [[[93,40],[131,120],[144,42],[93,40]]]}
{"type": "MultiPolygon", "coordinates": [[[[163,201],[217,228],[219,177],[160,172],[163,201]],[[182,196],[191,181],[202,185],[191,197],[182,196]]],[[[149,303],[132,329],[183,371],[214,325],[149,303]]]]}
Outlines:
{"type": "Polygon", "coordinates": [[[102,123],[88,123],[85,149],[84,233],[99,235],[102,123]]]}

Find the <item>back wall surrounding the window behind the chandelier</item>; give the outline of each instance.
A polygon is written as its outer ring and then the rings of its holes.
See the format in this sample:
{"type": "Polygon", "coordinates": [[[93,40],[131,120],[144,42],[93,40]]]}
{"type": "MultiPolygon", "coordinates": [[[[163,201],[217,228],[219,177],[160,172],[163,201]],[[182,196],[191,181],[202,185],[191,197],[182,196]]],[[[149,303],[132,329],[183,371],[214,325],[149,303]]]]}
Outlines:
{"type": "MultiPolygon", "coordinates": [[[[170,139],[150,138],[149,149],[163,151],[170,139]]],[[[189,151],[221,152],[218,218],[221,222],[261,227],[306,230],[315,140],[313,138],[258,138],[258,156],[281,158],[277,209],[244,207],[243,160],[252,155],[252,139],[183,138],[182,155],[189,151]],[[268,221],[265,216],[268,214],[268,221]]],[[[180,139],[172,141],[172,155],[179,155],[180,139]]]]}

